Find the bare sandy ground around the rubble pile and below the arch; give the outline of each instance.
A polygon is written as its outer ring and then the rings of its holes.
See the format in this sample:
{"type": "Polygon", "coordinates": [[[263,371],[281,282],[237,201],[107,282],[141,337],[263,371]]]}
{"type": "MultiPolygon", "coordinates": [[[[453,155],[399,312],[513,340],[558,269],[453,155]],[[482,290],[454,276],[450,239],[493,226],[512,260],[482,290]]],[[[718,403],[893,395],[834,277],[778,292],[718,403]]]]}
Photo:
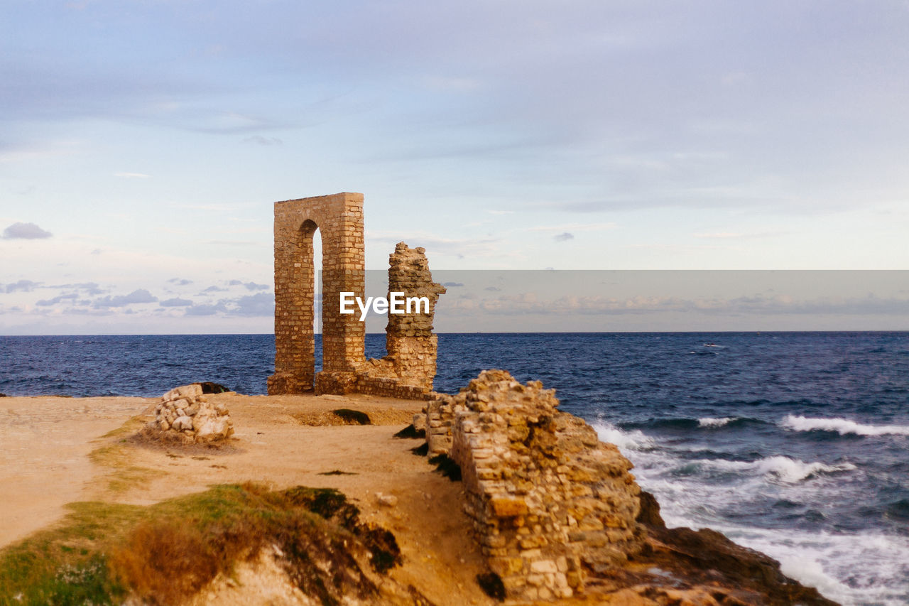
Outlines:
{"type": "Polygon", "coordinates": [[[393,572],[397,581],[440,605],[492,603],[474,581],[483,561],[460,484],[410,452],[420,440],[393,438],[422,402],[235,393],[206,399],[230,409],[231,449],[152,448],[104,437],[136,415],[151,419],[155,399],[0,399],[0,546],[59,519],[75,500],[148,504],[246,480],[275,489],[330,487],[354,500],[365,520],[395,533],[405,559],[393,572]],[[330,411],[339,408],[363,411],[374,425],[316,425],[338,422],[330,411]],[[114,467],[89,459],[105,447],[116,449],[114,467]],[[123,476],[127,468],[132,475],[123,476]],[[321,475],[330,471],[345,475],[321,475]],[[126,480],[115,486],[118,473],[126,480]],[[394,495],[397,505],[379,505],[377,493],[394,495]]]}

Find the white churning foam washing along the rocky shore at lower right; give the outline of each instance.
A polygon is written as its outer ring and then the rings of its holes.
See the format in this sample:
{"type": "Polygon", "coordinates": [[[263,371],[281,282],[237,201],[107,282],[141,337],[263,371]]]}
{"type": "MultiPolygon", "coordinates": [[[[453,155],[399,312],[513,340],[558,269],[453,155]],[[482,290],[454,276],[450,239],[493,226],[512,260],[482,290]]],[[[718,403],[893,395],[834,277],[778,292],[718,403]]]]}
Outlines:
{"type": "MultiPolygon", "coordinates": [[[[604,441],[622,449],[635,465],[642,488],[654,493],[670,527],[713,528],[735,542],[781,562],[789,577],[815,587],[844,606],[904,606],[909,603],[909,538],[880,532],[830,534],[794,528],[742,526],[725,516],[730,504],[768,495],[824,502],[840,494],[840,482],[814,481],[817,474],[855,470],[851,463],[805,462],[784,456],[754,461],[684,460],[639,430],[594,423],[604,441]],[[685,466],[694,475],[679,476],[685,466]],[[711,471],[729,472],[727,479],[711,471]],[[711,477],[711,476],[714,477],[711,477]],[[811,495],[811,496],[809,496],[811,495]]],[[[776,498],[774,496],[774,498],[776,498]]]]}

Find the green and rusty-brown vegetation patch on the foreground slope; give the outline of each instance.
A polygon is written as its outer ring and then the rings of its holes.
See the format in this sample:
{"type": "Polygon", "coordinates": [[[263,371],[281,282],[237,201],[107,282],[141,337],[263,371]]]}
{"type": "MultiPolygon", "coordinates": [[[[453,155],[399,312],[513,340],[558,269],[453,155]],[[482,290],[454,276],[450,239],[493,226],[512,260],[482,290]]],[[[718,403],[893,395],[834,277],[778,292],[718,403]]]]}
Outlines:
{"type": "Polygon", "coordinates": [[[277,547],[291,579],[324,604],[375,595],[358,561],[385,572],[395,537],[358,521],[337,490],[215,486],[148,507],[72,503],[59,525],[0,550],[0,604],[170,604],[277,547]]]}

